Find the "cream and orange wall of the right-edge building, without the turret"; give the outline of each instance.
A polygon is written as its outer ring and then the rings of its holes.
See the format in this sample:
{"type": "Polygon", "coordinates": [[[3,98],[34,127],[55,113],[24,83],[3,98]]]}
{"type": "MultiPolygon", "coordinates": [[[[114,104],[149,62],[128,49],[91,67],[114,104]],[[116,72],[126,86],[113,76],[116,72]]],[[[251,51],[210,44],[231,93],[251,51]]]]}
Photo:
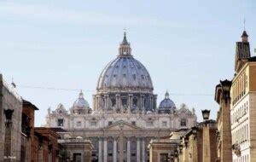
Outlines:
{"type": "Polygon", "coordinates": [[[256,63],[247,62],[232,82],[231,133],[232,144],[240,153],[233,152],[233,161],[256,161],[256,63]]]}

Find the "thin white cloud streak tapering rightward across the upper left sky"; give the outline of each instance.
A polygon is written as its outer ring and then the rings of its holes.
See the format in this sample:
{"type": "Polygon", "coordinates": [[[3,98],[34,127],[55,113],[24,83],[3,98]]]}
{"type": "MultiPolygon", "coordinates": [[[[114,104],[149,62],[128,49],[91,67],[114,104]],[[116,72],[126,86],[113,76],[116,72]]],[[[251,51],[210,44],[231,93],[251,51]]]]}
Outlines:
{"type": "Polygon", "coordinates": [[[91,13],[71,9],[61,9],[52,6],[39,6],[21,3],[0,3],[0,16],[15,16],[29,20],[54,20],[88,25],[112,25],[112,26],[173,26],[162,20],[154,20],[142,17],[123,17],[102,13],[91,13]]]}

